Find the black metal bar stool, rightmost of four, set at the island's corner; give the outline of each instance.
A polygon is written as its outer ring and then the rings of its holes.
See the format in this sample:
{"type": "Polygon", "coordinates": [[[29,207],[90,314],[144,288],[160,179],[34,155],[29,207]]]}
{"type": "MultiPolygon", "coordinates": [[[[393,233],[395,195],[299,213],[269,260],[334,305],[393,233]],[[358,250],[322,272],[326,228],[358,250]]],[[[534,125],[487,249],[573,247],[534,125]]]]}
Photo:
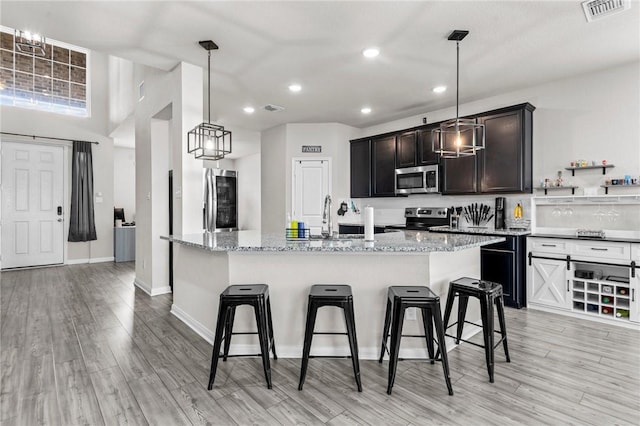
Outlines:
{"type": "Polygon", "coordinates": [[[509,358],[509,348],[507,347],[507,329],[504,321],[504,300],[502,297],[502,285],[491,281],[482,281],[469,277],[459,278],[452,281],[449,284],[449,295],[447,297],[447,307],[444,311],[444,324],[445,329],[449,329],[457,324],[456,335],[449,337],[455,337],[456,344],[460,341],[470,343],[475,346],[484,348],[485,358],[487,360],[487,371],[489,372],[489,381],[493,383],[493,350],[502,342],[504,348],[504,354],[507,358],[507,362],[511,362],[509,358]],[[449,318],[451,316],[451,308],[453,308],[453,301],[458,297],[458,321],[449,325],[449,318]],[[462,339],[462,330],[464,323],[473,324],[476,327],[480,325],[465,320],[467,314],[467,304],[469,303],[469,297],[475,297],[480,301],[480,316],[482,318],[482,335],[484,338],[484,345],[479,345],[474,342],[462,339]],[[500,330],[494,330],[493,325],[493,305],[495,304],[498,311],[498,321],[500,322],[500,330]],[[494,344],[494,333],[501,335],[500,340],[494,344]]]}

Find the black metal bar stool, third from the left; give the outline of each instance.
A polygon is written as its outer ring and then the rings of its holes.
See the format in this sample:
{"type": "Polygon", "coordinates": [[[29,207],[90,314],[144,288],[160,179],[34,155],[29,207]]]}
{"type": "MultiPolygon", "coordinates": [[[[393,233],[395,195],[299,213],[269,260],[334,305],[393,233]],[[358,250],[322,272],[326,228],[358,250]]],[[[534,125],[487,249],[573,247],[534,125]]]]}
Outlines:
{"type": "MultiPolygon", "coordinates": [[[[449,395],[453,395],[453,387],[451,386],[451,378],[449,377],[449,361],[447,360],[447,348],[444,340],[444,326],[442,324],[442,314],[440,312],[440,297],[431,291],[428,287],[422,286],[391,286],[387,292],[387,310],[384,316],[384,330],[382,334],[382,348],[380,349],[380,359],[382,362],[385,351],[389,352],[389,382],[387,384],[387,393],[391,395],[391,388],[396,378],[396,367],[398,360],[407,358],[398,358],[400,352],[400,340],[402,337],[420,337],[427,340],[427,351],[429,353],[429,361],[442,361],[442,370],[444,371],[444,380],[447,383],[449,395]],[[402,334],[402,326],[404,324],[404,312],[407,308],[419,308],[422,313],[422,322],[424,324],[425,334],[423,335],[405,335],[402,334]],[[438,345],[438,353],[442,355],[434,357],[434,338],[433,326],[435,324],[438,345]],[[389,329],[391,328],[391,333],[389,329]],[[387,339],[391,335],[391,347],[387,346],[387,339]],[[442,350],[440,350],[442,349],[442,350]]],[[[422,359],[422,358],[421,358],[422,359]]]]}

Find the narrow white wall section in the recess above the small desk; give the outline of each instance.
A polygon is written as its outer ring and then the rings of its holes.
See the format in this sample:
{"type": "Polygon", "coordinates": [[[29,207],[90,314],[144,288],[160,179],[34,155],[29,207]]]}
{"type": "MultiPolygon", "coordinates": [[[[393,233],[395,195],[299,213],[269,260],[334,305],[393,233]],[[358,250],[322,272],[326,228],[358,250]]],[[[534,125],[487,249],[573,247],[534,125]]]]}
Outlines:
{"type": "Polygon", "coordinates": [[[113,148],[113,205],[124,209],[127,222],[136,215],[136,150],[113,148]]]}

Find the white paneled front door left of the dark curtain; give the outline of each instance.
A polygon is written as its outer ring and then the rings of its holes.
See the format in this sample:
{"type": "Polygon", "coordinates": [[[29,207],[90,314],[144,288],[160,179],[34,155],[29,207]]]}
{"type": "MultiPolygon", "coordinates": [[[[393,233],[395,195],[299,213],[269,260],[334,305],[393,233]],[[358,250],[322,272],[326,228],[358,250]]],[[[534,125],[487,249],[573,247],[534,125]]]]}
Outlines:
{"type": "Polygon", "coordinates": [[[64,260],[60,146],[2,143],[2,268],[64,260]]]}

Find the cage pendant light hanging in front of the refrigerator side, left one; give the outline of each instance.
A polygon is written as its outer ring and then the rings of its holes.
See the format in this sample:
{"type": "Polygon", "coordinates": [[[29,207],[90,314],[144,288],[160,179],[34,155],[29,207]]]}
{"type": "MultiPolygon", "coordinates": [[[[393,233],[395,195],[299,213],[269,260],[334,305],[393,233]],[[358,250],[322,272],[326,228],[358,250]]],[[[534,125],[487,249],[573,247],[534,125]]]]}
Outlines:
{"type": "Polygon", "coordinates": [[[222,160],[231,154],[231,131],[211,123],[211,51],[218,45],[211,40],[199,42],[208,52],[207,58],[207,121],[187,133],[187,151],[200,160],[222,160]]]}

